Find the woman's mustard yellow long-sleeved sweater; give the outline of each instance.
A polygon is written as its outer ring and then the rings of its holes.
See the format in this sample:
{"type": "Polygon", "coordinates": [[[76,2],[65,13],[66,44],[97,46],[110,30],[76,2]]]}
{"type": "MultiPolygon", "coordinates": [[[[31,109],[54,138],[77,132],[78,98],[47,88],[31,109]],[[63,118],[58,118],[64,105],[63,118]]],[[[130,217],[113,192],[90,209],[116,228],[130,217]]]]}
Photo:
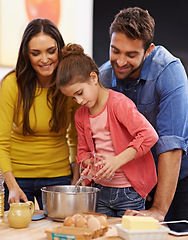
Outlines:
{"type": "Polygon", "coordinates": [[[12,170],[15,177],[26,178],[71,173],[70,161],[75,161],[77,147],[74,114],[78,105],[68,99],[69,128],[59,133],[50,132],[52,112],[47,106],[47,91],[36,90],[34,106],[30,110],[30,126],[36,135],[23,136],[22,113],[16,118],[18,87],[15,73],[3,80],[0,89],[0,167],[3,172],[12,170]]]}

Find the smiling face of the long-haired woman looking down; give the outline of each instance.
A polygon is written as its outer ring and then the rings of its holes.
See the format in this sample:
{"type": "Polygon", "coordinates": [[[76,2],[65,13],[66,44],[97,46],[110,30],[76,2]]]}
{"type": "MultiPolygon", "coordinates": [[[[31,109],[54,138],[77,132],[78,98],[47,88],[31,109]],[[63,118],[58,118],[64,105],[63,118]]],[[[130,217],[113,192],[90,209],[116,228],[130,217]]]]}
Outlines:
{"type": "Polygon", "coordinates": [[[49,79],[58,65],[56,40],[45,33],[39,33],[29,41],[28,53],[38,80],[49,79]]]}

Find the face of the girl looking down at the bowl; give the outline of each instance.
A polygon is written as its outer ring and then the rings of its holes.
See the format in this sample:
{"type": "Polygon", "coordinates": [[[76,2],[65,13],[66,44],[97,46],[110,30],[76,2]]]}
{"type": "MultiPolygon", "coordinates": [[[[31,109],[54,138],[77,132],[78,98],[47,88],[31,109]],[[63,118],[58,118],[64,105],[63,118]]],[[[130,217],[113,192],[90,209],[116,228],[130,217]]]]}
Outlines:
{"type": "Polygon", "coordinates": [[[98,78],[90,77],[87,82],[75,82],[60,88],[63,94],[71,97],[78,104],[93,108],[98,100],[99,85],[98,78]]]}

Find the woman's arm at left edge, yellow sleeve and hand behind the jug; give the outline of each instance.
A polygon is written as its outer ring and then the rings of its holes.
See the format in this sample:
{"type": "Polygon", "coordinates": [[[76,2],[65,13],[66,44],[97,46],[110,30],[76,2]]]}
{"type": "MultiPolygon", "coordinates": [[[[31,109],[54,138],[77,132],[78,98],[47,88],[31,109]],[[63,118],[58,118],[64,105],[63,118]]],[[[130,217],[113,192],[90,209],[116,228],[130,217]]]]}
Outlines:
{"type": "Polygon", "coordinates": [[[9,189],[9,203],[27,201],[12,172],[10,141],[15,106],[17,103],[17,84],[14,73],[3,80],[0,88],[0,167],[9,189]]]}

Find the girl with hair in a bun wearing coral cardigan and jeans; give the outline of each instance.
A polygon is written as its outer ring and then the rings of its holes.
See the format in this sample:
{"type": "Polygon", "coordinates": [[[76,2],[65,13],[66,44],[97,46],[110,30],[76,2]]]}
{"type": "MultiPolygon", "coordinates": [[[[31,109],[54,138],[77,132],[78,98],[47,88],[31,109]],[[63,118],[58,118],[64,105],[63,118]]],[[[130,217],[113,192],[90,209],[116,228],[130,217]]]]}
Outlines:
{"type": "Polygon", "coordinates": [[[101,189],[96,211],[122,217],[127,208],[144,209],[145,198],[157,182],[150,148],[158,135],[130,99],[100,84],[98,74],[81,46],[64,47],[56,83],[82,105],[75,114],[77,161],[88,152],[100,154],[103,160],[97,164],[103,167],[94,179],[94,186],[101,189]]]}

